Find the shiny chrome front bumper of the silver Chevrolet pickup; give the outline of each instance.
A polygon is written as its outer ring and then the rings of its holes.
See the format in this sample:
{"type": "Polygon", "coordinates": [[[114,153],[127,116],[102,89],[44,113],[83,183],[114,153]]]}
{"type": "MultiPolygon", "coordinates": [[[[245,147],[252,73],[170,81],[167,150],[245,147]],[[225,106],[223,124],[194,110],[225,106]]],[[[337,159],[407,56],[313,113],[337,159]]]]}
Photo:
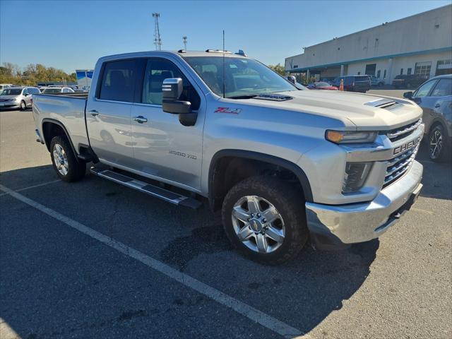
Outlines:
{"type": "Polygon", "coordinates": [[[422,189],[422,171],[422,165],[414,161],[403,177],[366,203],[306,203],[307,226],[314,245],[328,249],[379,237],[416,201],[422,189]]]}

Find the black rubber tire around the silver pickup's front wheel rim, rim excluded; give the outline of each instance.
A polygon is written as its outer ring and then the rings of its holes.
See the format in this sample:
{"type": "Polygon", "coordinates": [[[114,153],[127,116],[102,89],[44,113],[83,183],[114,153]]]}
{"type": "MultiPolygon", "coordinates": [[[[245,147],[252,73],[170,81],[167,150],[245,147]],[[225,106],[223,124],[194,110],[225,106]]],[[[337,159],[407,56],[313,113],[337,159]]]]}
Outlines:
{"type": "Polygon", "coordinates": [[[232,246],[244,256],[270,265],[284,263],[296,256],[309,237],[302,194],[290,184],[272,177],[250,177],[232,187],[223,201],[222,224],[232,246]],[[253,251],[237,237],[232,223],[232,208],[244,196],[259,196],[266,199],[275,206],[283,218],[285,237],[274,251],[270,253],[253,251]]]}

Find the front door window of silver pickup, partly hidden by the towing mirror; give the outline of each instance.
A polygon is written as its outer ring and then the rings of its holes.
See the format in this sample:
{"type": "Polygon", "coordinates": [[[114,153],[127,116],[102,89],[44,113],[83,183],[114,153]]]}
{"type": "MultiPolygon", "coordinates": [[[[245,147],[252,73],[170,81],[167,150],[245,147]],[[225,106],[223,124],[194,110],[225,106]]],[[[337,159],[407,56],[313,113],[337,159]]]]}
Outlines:
{"type": "Polygon", "coordinates": [[[171,61],[157,58],[149,59],[146,65],[141,102],[162,105],[162,84],[167,78],[182,78],[184,90],[179,100],[191,102],[192,109],[199,108],[201,98],[184,73],[171,61]]]}

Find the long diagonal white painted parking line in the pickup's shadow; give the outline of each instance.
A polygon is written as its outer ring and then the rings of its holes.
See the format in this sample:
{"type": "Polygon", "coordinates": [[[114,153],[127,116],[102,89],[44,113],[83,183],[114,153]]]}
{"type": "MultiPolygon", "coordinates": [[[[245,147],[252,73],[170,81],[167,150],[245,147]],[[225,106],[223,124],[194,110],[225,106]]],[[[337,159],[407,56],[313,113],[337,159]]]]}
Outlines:
{"type": "MultiPolygon", "coordinates": [[[[8,187],[0,184],[0,190],[4,191],[6,194],[12,196],[13,198],[16,198],[19,201],[22,201],[23,203],[26,203],[27,205],[40,210],[42,213],[45,213],[54,219],[64,222],[69,227],[72,227],[73,229],[88,235],[88,237],[96,239],[99,242],[102,242],[103,244],[116,249],[122,254],[134,258],[141,263],[144,263],[146,266],[149,266],[150,268],[153,268],[154,270],[167,275],[167,277],[176,280],[182,285],[190,287],[191,289],[196,290],[196,292],[199,292],[202,295],[206,295],[210,299],[215,300],[215,302],[233,309],[237,313],[242,314],[242,316],[246,316],[247,318],[261,324],[269,330],[283,335],[285,338],[294,338],[299,335],[304,335],[304,333],[302,333],[302,331],[299,331],[297,328],[293,328],[292,326],[287,325],[287,323],[283,323],[283,321],[279,321],[278,319],[273,318],[273,316],[269,316],[268,314],[265,314],[262,311],[259,311],[258,309],[245,304],[244,302],[240,302],[239,300],[226,295],[225,293],[215,289],[214,287],[210,287],[209,285],[206,285],[205,283],[192,278],[190,275],[182,273],[179,270],[175,270],[171,266],[168,266],[161,261],[151,258],[150,256],[147,256],[146,254],[143,254],[140,251],[127,246],[126,244],[118,242],[111,237],[107,237],[107,235],[97,232],[76,220],[68,218],[65,215],[57,212],[56,210],[52,210],[52,208],[45,207],[40,203],[37,203],[36,201],[27,198],[26,196],[23,196],[22,194],[18,194],[16,191],[8,189],[8,187]]],[[[307,337],[304,336],[303,338],[307,337]]]]}

